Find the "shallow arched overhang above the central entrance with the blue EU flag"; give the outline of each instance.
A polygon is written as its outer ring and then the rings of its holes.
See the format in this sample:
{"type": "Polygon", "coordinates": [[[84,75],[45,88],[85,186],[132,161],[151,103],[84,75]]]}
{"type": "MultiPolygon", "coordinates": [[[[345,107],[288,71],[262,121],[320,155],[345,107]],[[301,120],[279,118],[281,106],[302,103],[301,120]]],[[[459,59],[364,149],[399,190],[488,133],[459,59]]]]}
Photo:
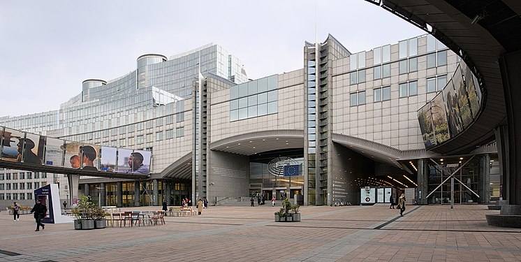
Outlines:
{"type": "Polygon", "coordinates": [[[261,152],[304,147],[303,130],[244,133],[210,143],[210,150],[251,156],[261,152]]]}

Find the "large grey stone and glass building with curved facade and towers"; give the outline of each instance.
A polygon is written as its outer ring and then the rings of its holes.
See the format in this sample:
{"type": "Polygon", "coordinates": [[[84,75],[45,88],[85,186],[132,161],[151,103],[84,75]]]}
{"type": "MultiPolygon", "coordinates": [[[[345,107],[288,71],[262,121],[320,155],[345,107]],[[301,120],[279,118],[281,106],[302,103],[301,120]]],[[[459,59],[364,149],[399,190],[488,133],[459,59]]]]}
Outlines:
{"type": "Polygon", "coordinates": [[[65,175],[0,170],[0,203],[29,201],[50,182],[65,185],[63,199],[86,194],[117,206],[250,196],[360,204],[361,187],[394,187],[423,204],[488,203],[501,194],[494,141],[467,155],[430,151],[480,113],[480,84],[465,68],[430,35],[356,53],[328,36],[304,43],[302,68],[257,80],[219,45],[145,54],[129,74],[85,80],[59,110],[0,125],[150,151],[149,177],[82,176],[69,188],[65,175]],[[451,196],[442,182],[453,173],[462,184],[451,196]]]}

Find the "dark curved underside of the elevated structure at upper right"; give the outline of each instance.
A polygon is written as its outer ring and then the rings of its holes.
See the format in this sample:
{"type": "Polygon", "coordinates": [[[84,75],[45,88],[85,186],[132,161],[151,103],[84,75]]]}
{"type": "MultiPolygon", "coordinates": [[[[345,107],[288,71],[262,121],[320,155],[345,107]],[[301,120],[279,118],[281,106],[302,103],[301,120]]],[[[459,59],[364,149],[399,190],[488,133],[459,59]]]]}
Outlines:
{"type": "MultiPolygon", "coordinates": [[[[369,1],[369,0],[367,0],[369,1]]],[[[372,0],[424,29],[464,59],[482,86],[481,112],[474,122],[432,151],[464,154],[494,140],[494,129],[506,125],[499,57],[521,48],[521,3],[518,0],[372,0]],[[481,16],[481,18],[479,17],[481,16]]]]}

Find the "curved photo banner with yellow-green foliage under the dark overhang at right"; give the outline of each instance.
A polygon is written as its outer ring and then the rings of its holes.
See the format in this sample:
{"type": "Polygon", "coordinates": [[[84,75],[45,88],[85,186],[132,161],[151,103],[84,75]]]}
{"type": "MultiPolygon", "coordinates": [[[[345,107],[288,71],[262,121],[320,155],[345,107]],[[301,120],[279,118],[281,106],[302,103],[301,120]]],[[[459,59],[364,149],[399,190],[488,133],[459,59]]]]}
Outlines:
{"type": "Polygon", "coordinates": [[[478,79],[461,61],[443,90],[418,110],[425,148],[428,150],[454,138],[469,127],[478,116],[480,103],[478,79]]]}

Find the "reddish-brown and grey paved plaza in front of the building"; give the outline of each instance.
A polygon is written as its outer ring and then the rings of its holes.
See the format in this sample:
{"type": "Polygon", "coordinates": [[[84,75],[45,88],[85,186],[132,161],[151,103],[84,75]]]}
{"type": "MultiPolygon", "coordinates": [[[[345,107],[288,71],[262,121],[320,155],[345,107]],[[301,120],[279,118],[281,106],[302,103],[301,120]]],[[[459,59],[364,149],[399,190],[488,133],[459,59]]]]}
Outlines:
{"type": "MultiPolygon", "coordinates": [[[[0,261],[521,261],[521,229],[487,226],[486,205],[210,207],[166,225],[78,231],[0,213],[0,261]]],[[[159,207],[126,210],[156,210],[159,207]]]]}

